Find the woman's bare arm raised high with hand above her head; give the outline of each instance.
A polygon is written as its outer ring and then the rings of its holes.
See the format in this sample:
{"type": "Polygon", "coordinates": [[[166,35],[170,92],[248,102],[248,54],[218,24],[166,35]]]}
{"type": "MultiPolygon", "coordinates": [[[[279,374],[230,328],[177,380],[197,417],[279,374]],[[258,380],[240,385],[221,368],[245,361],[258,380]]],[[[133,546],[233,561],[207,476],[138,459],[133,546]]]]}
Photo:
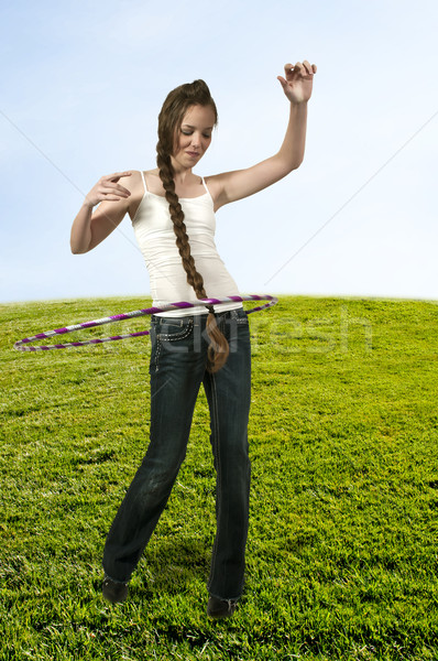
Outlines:
{"type": "Polygon", "coordinates": [[[291,102],[291,113],[283,144],[275,155],[252,167],[208,177],[209,185],[216,191],[215,208],[263,191],[296,170],[303,162],[307,101],[311,96],[316,65],[310,65],[305,59],[303,64],[297,62],[295,66],[286,64],[284,69],[286,78],[277,76],[277,79],[291,102]]]}

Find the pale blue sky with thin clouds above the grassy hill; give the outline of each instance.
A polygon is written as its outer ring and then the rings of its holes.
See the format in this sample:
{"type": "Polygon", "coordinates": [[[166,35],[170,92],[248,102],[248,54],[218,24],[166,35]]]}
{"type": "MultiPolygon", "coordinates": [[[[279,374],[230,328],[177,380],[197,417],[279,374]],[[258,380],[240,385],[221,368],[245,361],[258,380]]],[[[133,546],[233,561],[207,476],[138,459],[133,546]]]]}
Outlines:
{"type": "MultiPolygon", "coordinates": [[[[102,174],[155,166],[167,91],[219,110],[199,174],[280,148],[286,62],[317,64],[306,155],[218,212],[244,293],[438,299],[436,1],[8,1],[0,9],[0,302],[149,295],[127,216],[84,256],[69,232],[102,174]]],[[[114,311],[117,312],[117,311],[114,311]]]]}

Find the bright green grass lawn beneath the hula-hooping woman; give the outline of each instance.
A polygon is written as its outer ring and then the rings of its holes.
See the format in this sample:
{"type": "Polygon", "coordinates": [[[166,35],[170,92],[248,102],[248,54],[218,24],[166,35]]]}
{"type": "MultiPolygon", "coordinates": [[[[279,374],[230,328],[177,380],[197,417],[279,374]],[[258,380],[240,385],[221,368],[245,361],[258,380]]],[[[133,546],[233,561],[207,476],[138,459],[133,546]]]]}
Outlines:
{"type": "Polygon", "coordinates": [[[12,350],[147,304],[0,306],[0,660],[438,659],[437,304],[284,296],[250,316],[247,586],[220,622],[205,613],[215,474],[204,393],[129,600],[110,607],[101,553],[147,446],[150,340],[12,350]]]}

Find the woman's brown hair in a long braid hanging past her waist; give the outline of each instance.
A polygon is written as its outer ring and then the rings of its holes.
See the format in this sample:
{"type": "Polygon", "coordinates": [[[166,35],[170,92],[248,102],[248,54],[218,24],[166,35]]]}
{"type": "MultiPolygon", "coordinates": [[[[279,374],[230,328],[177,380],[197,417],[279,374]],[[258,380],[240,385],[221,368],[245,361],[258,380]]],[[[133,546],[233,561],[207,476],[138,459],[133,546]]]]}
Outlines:
{"type": "MultiPolygon", "coordinates": [[[[156,164],[166,193],[165,196],[168,202],[168,209],[176,236],[176,246],[187,274],[187,282],[194,288],[198,299],[208,299],[204,289],[202,275],[196,270],[195,260],[190,252],[190,243],[188,242],[187,229],[184,223],[184,212],[175,193],[175,173],[171,160],[171,155],[174,153],[175,136],[179,132],[183,118],[189,107],[195,105],[210,106],[216,117],[215,126],[217,124],[218,111],[211,98],[210,90],[204,80],[195,80],[194,83],[187,83],[173,89],[167,95],[158,115],[156,164]]],[[[218,328],[213,307],[211,305],[206,305],[206,307],[209,310],[206,329],[210,342],[207,370],[213,373],[226,364],[230,347],[227,338],[218,328]]]]}

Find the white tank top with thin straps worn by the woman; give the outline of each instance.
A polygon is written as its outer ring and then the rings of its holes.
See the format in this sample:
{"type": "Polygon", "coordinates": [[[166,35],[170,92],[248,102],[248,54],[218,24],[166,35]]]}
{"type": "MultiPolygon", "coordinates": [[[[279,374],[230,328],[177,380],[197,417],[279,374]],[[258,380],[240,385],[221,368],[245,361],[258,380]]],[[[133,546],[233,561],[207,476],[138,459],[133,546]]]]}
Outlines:
{"type": "MultiPolygon", "coordinates": [[[[176,236],[163,195],[150,193],[144,174],[141,172],[144,195],[132,220],[135,238],[143,253],[151,280],[153,305],[161,307],[177,301],[196,302],[195,290],[187,282],[176,236]]],[[[191,256],[196,270],[204,278],[204,289],[208,297],[240,295],[234,280],[226,269],[215,245],[216,216],[213,201],[202,177],[206,189],[198,197],[179,197],[184,212],[191,256]]],[[[216,312],[242,307],[241,303],[215,305],[216,312]]],[[[158,313],[160,316],[187,316],[208,314],[207,307],[189,307],[158,313]]]]}

